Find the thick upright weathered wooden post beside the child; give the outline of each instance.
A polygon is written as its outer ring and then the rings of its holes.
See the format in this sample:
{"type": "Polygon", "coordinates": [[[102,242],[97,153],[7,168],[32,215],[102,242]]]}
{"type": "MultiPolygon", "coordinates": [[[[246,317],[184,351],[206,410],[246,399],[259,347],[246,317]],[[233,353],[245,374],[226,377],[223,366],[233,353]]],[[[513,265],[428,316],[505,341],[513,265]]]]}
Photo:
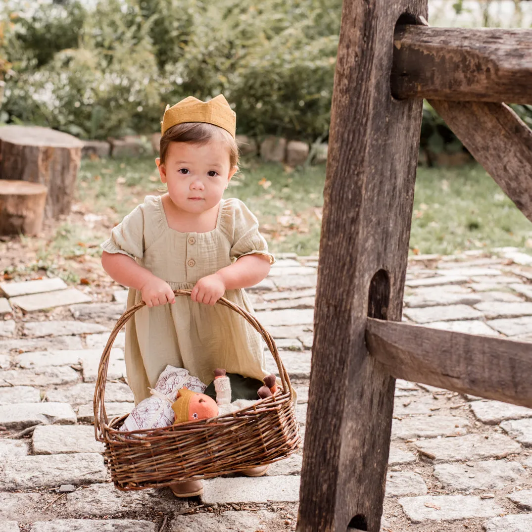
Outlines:
{"type": "Polygon", "coordinates": [[[368,356],[364,333],[369,306],[401,319],[422,104],[398,102],[390,94],[393,32],[405,12],[427,16],[426,0],[343,4],[300,532],[380,529],[395,380],[368,356]],[[386,275],[373,283],[370,305],[371,280],[379,270],[386,275]],[[375,286],[379,282],[389,282],[389,290],[375,286]]]}

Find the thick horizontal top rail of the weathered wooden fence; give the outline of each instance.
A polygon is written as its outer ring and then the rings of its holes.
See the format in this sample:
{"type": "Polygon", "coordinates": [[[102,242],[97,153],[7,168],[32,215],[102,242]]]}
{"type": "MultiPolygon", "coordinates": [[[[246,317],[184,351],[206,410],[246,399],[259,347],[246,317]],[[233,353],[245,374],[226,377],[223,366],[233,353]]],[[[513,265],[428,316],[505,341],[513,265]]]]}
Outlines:
{"type": "Polygon", "coordinates": [[[397,26],[398,99],[532,103],[532,30],[397,26]]]}

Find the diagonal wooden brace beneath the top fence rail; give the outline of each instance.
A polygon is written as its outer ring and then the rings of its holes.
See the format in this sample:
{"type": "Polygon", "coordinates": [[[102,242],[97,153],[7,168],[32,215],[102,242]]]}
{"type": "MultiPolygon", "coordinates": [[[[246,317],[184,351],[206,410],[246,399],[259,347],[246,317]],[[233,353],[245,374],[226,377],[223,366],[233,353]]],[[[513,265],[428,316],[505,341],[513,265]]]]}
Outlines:
{"type": "Polygon", "coordinates": [[[532,130],[508,105],[430,100],[471,155],[532,221],[532,130]]]}

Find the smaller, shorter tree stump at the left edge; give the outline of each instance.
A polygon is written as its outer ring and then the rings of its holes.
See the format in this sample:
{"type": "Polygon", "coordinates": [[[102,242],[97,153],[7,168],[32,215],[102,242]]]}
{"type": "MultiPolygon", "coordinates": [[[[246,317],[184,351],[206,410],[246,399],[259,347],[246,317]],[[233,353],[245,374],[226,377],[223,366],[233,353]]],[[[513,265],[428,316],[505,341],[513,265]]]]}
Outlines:
{"type": "Polygon", "coordinates": [[[46,187],[0,180],[0,235],[36,235],[43,226],[46,187]]]}

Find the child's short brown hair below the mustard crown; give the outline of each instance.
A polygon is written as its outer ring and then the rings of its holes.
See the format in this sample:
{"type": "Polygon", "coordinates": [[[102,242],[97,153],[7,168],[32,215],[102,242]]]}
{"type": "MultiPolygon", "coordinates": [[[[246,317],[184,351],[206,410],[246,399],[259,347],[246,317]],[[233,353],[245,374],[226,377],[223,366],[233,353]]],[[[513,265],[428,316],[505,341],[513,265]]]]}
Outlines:
{"type": "Polygon", "coordinates": [[[206,144],[210,140],[219,140],[229,148],[229,164],[238,164],[238,145],[231,134],[223,128],[204,122],[185,122],[168,128],[161,137],[159,156],[161,164],[166,160],[168,146],[171,142],[189,142],[191,144],[206,144]]]}

